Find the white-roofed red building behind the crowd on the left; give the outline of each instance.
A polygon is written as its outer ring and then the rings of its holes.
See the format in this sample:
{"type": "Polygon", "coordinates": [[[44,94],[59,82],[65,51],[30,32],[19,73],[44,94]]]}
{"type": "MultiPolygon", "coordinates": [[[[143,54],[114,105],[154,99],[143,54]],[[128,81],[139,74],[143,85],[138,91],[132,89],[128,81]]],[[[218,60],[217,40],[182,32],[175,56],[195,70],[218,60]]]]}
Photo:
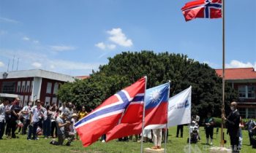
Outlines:
{"type": "Polygon", "coordinates": [[[59,86],[74,80],[74,76],[41,69],[0,72],[0,93],[17,94],[20,106],[26,106],[28,101],[36,99],[45,105],[56,103],[61,106],[61,101],[56,97],[59,86]]]}

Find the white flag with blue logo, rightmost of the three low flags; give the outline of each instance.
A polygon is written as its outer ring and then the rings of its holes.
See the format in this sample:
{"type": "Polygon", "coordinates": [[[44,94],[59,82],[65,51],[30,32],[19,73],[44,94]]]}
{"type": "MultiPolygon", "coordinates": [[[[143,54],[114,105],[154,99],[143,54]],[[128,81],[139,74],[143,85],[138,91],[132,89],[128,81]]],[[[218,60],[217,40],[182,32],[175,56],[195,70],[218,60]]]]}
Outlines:
{"type": "MultiPolygon", "coordinates": [[[[184,125],[191,122],[191,89],[190,86],[186,90],[181,91],[168,100],[168,119],[167,127],[176,125],[184,125]]],[[[155,128],[165,128],[165,125],[159,125],[155,128]]],[[[146,129],[151,129],[151,125],[146,129]]]]}

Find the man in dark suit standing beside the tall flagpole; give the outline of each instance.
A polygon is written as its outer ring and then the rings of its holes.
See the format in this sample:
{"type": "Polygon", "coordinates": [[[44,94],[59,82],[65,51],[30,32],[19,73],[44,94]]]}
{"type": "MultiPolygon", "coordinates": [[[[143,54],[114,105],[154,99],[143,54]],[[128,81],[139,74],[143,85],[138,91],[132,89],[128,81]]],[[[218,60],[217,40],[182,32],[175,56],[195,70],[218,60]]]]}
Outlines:
{"type": "Polygon", "coordinates": [[[225,120],[227,124],[227,133],[230,135],[230,144],[232,146],[232,152],[234,153],[240,151],[240,148],[238,147],[240,114],[236,108],[237,103],[232,102],[230,103],[230,114],[227,117],[222,114],[222,119],[225,120]]]}

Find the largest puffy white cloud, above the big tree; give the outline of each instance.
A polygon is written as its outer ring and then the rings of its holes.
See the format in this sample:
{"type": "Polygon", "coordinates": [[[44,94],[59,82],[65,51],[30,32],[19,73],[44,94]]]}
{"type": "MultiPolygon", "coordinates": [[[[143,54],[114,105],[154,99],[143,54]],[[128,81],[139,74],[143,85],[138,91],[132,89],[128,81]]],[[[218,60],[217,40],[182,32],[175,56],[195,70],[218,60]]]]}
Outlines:
{"type": "Polygon", "coordinates": [[[132,39],[127,39],[127,36],[122,32],[121,28],[112,28],[111,31],[107,31],[110,34],[108,38],[111,42],[114,42],[123,47],[131,47],[132,39]]]}

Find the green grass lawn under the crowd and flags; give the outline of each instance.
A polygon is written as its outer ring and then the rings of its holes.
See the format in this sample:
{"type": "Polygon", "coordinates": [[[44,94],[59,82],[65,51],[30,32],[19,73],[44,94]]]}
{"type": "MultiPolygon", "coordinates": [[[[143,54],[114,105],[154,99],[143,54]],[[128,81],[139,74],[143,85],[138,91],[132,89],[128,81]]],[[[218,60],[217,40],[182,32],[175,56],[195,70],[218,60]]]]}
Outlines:
{"type": "MultiPolygon", "coordinates": [[[[85,152],[85,153],[138,153],[140,152],[140,143],[135,141],[129,142],[117,142],[110,141],[108,143],[102,143],[97,141],[91,146],[84,148],[80,141],[73,141],[71,146],[53,146],[50,145],[49,142],[51,139],[44,139],[39,136],[38,141],[27,141],[26,136],[18,135],[19,138],[7,139],[4,136],[3,140],[0,140],[0,152],[85,152]]],[[[187,144],[188,138],[188,128],[184,126],[184,137],[176,138],[176,127],[171,127],[169,129],[169,136],[167,141],[167,152],[168,153],[180,153],[180,152],[188,152],[189,145],[187,144]]],[[[208,148],[211,146],[206,145],[206,135],[203,127],[200,128],[200,136],[201,141],[197,144],[192,144],[192,152],[196,153],[205,153],[208,152],[208,148]]],[[[252,146],[249,146],[249,138],[246,130],[243,130],[243,146],[241,153],[256,153],[256,149],[252,149],[252,146]]],[[[228,146],[230,144],[229,138],[226,136],[228,146]]],[[[220,133],[216,134],[216,129],[214,129],[214,146],[219,146],[220,133]]],[[[143,147],[151,147],[153,144],[150,142],[143,143],[143,147]]],[[[162,144],[162,147],[165,145],[162,144]]]]}

